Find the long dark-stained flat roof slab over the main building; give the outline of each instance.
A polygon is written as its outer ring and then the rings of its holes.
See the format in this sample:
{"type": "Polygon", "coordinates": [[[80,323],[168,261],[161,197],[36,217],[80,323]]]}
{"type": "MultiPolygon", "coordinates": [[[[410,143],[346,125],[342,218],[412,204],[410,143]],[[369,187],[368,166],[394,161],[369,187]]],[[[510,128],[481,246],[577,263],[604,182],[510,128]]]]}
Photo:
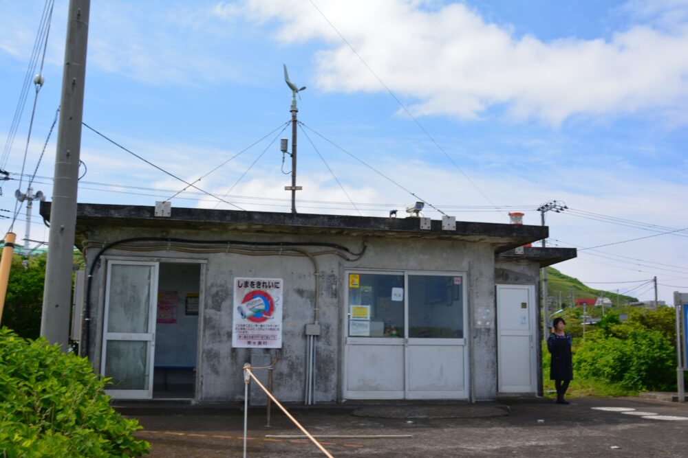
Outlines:
{"type": "MultiPolygon", "coordinates": [[[[41,202],[41,216],[46,220],[50,220],[50,208],[50,202],[41,202]]],[[[172,207],[171,216],[163,218],[155,216],[153,206],[93,203],[79,203],[76,206],[76,226],[77,238],[80,238],[79,233],[96,227],[342,234],[488,242],[493,244],[495,253],[515,249],[548,236],[546,226],[493,222],[457,221],[454,230],[444,230],[441,220],[433,220],[430,229],[420,229],[418,218],[291,214],[184,207],[172,207]]]]}

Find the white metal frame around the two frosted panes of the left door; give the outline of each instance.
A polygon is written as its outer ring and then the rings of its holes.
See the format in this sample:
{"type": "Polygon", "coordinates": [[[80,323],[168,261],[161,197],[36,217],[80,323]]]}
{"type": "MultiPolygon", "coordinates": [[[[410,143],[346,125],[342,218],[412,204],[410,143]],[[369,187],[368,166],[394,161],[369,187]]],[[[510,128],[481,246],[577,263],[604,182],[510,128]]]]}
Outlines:
{"type": "Polygon", "coordinates": [[[105,389],[105,392],[114,399],[152,399],[153,398],[153,371],[155,358],[155,324],[158,316],[158,275],[160,273],[160,263],[155,261],[135,261],[135,260],[106,260],[105,275],[105,307],[103,308],[103,348],[100,358],[100,375],[105,377],[107,365],[107,343],[108,341],[136,341],[149,342],[147,346],[147,389],[105,389]],[[148,332],[108,332],[110,310],[110,288],[112,268],[114,265],[129,266],[151,266],[153,275],[149,284],[149,308],[148,308],[148,332]]]}

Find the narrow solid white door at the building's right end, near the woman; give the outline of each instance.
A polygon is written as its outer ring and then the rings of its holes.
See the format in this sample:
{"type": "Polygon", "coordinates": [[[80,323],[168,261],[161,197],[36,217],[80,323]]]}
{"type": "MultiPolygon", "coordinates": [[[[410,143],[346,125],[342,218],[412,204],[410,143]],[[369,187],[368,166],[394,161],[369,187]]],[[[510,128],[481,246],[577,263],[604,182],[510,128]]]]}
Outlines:
{"type": "Polygon", "coordinates": [[[535,286],[497,285],[500,393],[537,391],[535,286]]]}

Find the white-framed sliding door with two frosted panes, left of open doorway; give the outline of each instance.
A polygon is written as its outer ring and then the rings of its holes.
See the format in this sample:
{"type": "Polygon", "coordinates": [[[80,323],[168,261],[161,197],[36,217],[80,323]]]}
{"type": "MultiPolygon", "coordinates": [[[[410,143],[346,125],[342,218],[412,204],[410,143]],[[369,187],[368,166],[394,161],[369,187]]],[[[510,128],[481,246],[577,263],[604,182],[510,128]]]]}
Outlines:
{"type": "Polygon", "coordinates": [[[157,262],[107,262],[100,374],[113,398],[153,397],[157,291],[157,262]]]}

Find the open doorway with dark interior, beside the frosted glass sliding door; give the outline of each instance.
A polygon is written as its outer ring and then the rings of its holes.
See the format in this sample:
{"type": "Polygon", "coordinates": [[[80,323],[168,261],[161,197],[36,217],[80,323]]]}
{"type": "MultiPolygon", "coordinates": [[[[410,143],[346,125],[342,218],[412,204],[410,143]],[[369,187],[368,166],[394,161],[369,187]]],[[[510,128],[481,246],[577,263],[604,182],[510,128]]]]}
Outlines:
{"type": "Polygon", "coordinates": [[[159,268],[153,398],[194,398],[201,266],[159,268]]]}

